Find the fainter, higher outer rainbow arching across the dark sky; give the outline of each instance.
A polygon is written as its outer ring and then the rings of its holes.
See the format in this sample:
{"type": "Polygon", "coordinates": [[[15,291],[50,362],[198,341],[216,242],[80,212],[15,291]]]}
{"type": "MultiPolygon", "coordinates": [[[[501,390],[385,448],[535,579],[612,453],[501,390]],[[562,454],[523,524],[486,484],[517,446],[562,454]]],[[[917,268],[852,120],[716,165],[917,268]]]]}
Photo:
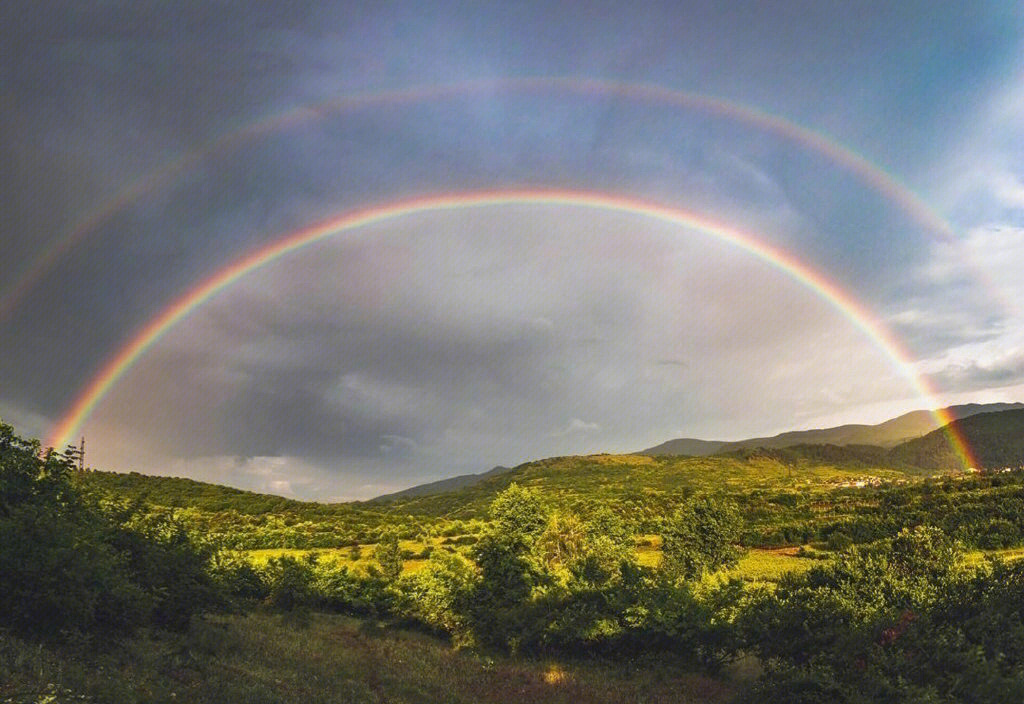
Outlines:
{"type": "MultiPolygon", "coordinates": [[[[291,125],[314,121],[330,114],[384,105],[413,104],[428,100],[452,99],[459,96],[486,92],[551,92],[570,95],[612,96],[626,100],[674,106],[681,109],[700,111],[732,120],[774,134],[805,149],[825,157],[855,174],[863,183],[869,185],[889,201],[897,204],[928,231],[938,235],[944,241],[951,243],[954,246],[958,245],[952,226],[896,177],[835,139],[765,111],[720,97],[674,90],[644,83],[572,77],[475,80],[346,95],[318,103],[300,105],[264,116],[210,139],[198,148],[177,159],[173,159],[126,184],[111,200],[90,211],[80,221],[72,225],[62,235],[57,237],[56,241],[27,266],[5,291],[0,292],[0,320],[9,315],[37,282],[90,232],[96,230],[112,217],[124,211],[137,199],[161,186],[169,184],[175,176],[200,165],[205,159],[215,153],[231,148],[259,135],[291,125]]],[[[985,287],[989,295],[998,301],[1004,309],[1012,310],[1014,308],[1012,302],[983,275],[980,267],[974,264],[970,257],[965,257],[965,261],[971,266],[975,276],[985,287]]]]}

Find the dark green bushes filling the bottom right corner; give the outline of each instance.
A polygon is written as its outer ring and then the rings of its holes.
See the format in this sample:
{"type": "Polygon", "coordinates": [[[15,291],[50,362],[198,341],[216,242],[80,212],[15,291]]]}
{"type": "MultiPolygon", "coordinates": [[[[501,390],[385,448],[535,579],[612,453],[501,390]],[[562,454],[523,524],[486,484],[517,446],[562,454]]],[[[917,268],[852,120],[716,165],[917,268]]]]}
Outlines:
{"type": "Polygon", "coordinates": [[[1021,567],[972,573],[923,527],[783,580],[742,618],[767,665],[756,698],[1020,701],[1021,567]]]}

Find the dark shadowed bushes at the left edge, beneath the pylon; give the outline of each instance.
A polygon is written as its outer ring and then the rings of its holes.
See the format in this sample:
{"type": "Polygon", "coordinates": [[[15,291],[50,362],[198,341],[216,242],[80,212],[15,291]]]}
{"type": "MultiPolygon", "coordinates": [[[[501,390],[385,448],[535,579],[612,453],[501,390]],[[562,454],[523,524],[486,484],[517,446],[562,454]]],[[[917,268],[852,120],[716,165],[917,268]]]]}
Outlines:
{"type": "Polygon", "coordinates": [[[0,423],[0,626],[108,636],[213,606],[209,551],[169,517],[83,494],[74,459],[0,423]]]}

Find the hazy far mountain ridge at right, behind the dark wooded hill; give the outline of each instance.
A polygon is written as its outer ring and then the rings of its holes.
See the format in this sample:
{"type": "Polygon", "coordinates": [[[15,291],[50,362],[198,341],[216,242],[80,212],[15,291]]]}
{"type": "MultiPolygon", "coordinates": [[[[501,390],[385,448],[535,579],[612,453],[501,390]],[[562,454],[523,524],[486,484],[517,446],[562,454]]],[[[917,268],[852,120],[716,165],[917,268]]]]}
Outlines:
{"type": "MultiPolygon", "coordinates": [[[[959,420],[1005,410],[1024,409],[1024,403],[968,403],[949,406],[945,409],[953,419],[959,420]]],[[[930,410],[912,410],[878,425],[851,424],[835,428],[800,430],[781,433],[765,438],[750,438],[733,442],[694,440],[681,438],[641,450],[638,454],[690,454],[706,456],[723,452],[734,452],[755,447],[790,447],[793,445],[878,445],[895,447],[914,438],[920,438],[939,428],[935,413],[930,410]]]]}

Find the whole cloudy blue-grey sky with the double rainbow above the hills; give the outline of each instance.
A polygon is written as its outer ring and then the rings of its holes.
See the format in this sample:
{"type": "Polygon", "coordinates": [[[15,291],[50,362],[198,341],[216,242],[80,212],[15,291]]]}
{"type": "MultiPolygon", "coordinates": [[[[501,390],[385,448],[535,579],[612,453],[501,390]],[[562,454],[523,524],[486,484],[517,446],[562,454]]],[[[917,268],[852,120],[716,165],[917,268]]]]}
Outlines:
{"type": "Polygon", "coordinates": [[[710,5],[2,3],[0,417],[333,501],[1024,400],[1021,5],[710,5]]]}

